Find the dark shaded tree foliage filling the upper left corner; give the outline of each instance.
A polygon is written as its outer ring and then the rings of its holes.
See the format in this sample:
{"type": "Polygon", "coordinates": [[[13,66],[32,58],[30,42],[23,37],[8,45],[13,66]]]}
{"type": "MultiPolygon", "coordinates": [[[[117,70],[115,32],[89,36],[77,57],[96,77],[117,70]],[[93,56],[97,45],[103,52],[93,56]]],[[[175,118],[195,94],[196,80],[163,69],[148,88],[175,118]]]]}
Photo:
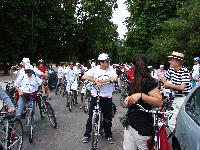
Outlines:
{"type": "Polygon", "coordinates": [[[0,2],[0,62],[59,62],[74,52],[76,6],[69,0],[0,2]],[[13,55],[14,54],[14,55],[13,55]]]}

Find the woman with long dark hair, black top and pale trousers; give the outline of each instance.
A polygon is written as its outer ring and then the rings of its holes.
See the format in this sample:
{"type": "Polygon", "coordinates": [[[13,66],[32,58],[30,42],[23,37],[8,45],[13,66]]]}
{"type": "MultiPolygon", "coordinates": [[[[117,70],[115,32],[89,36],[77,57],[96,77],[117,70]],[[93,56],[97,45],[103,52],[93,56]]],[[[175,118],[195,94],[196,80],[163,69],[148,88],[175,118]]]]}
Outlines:
{"type": "Polygon", "coordinates": [[[150,75],[144,54],[134,57],[135,78],[129,96],[124,103],[128,107],[129,126],[124,130],[124,150],[148,150],[148,141],[153,136],[153,118],[150,113],[139,110],[136,103],[145,109],[162,106],[158,84],[150,75]]]}

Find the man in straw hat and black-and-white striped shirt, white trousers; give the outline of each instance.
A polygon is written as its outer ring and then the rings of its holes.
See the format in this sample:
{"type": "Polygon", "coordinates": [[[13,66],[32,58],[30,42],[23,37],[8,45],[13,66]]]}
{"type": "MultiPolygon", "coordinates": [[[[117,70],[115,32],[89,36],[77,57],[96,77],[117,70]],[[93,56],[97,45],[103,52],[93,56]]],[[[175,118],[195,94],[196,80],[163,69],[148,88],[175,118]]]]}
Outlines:
{"type": "Polygon", "coordinates": [[[186,95],[191,90],[190,74],[186,67],[183,67],[184,54],[180,52],[173,52],[170,58],[170,68],[161,78],[163,86],[168,89],[172,89],[174,92],[174,101],[172,107],[174,108],[174,114],[169,120],[169,126],[171,131],[174,130],[176,124],[176,117],[184,102],[186,95]]]}

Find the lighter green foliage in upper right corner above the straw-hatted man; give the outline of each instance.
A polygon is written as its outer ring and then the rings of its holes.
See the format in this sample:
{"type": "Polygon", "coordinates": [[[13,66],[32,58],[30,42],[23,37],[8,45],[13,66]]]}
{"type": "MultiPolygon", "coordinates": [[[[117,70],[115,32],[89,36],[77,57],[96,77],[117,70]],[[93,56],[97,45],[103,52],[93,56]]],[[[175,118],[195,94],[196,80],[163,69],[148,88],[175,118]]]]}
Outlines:
{"type": "Polygon", "coordinates": [[[186,59],[200,55],[200,1],[188,0],[177,11],[177,18],[166,21],[163,32],[153,43],[154,49],[162,50],[162,55],[176,50],[185,53],[186,59]]]}

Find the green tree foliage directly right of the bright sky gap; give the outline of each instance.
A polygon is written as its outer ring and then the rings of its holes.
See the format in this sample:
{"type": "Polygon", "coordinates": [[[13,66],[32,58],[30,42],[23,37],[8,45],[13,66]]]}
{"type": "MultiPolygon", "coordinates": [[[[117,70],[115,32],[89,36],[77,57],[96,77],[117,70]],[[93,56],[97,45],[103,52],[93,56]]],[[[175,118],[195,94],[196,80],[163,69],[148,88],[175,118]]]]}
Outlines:
{"type": "MultiPolygon", "coordinates": [[[[160,62],[160,49],[152,48],[152,41],[162,32],[162,23],[176,17],[177,8],[184,0],[127,0],[130,17],[127,18],[128,34],[125,42],[130,53],[145,53],[154,63],[160,62]]],[[[129,55],[131,56],[131,55],[129,55]]]]}

